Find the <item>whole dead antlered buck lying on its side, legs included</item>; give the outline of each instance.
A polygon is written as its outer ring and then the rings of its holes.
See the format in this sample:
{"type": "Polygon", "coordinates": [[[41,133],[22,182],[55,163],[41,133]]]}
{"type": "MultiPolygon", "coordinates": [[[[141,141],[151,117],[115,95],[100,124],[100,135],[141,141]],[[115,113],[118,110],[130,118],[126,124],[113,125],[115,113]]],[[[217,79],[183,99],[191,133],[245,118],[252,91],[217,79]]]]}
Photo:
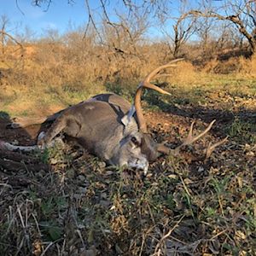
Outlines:
{"type": "MultiPolygon", "coordinates": [[[[151,84],[150,80],[157,77],[160,71],[168,67],[176,67],[174,63],[177,61],[181,61],[181,59],[157,67],[149,73],[139,84],[132,105],[115,94],[96,95],[88,101],[80,102],[50,116],[48,119],[55,119],[55,122],[49,131],[38,137],[38,146],[22,147],[2,142],[0,148],[10,150],[45,148],[49,147],[58,134],[64,132],[68,137],[75,138],[82,147],[107,162],[108,165],[141,169],[146,174],[149,163],[154,162],[160,154],[177,155],[184,145],[195,143],[207,134],[215,121],[213,120],[205,131],[195,137],[192,135],[193,122],[190,126],[189,136],[175,149],[166,147],[164,143],[155,143],[148,133],[141,105],[143,89],[147,88],[170,95],[166,90],[151,84]]],[[[44,119],[35,119],[34,121],[33,123],[43,122],[44,119]]],[[[29,123],[25,122],[21,126],[29,125],[29,123]]],[[[207,157],[214,148],[225,141],[226,139],[209,146],[207,157]]]]}

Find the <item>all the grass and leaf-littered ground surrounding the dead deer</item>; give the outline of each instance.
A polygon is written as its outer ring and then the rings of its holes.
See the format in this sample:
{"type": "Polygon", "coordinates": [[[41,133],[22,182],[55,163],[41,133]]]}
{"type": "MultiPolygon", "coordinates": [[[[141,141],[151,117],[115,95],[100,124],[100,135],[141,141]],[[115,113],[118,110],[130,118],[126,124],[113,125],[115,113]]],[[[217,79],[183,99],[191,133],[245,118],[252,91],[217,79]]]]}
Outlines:
{"type": "MultiPolygon", "coordinates": [[[[77,52],[45,45],[33,46],[22,63],[5,60],[16,67],[1,69],[0,118],[53,113],[104,91],[131,99],[140,79],[169,61],[154,45],[147,61],[104,58],[104,49],[87,52],[84,44],[77,52]]],[[[18,154],[18,167],[0,165],[0,254],[253,255],[254,64],[254,58],[240,58],[199,68],[183,61],[167,84],[155,81],[172,93],[143,97],[156,140],[177,144],[192,119],[198,120],[196,131],[212,119],[217,125],[182,157],[160,158],[147,177],[61,143],[43,154],[18,154]],[[225,135],[229,142],[205,161],[202,148],[225,135]]]]}

